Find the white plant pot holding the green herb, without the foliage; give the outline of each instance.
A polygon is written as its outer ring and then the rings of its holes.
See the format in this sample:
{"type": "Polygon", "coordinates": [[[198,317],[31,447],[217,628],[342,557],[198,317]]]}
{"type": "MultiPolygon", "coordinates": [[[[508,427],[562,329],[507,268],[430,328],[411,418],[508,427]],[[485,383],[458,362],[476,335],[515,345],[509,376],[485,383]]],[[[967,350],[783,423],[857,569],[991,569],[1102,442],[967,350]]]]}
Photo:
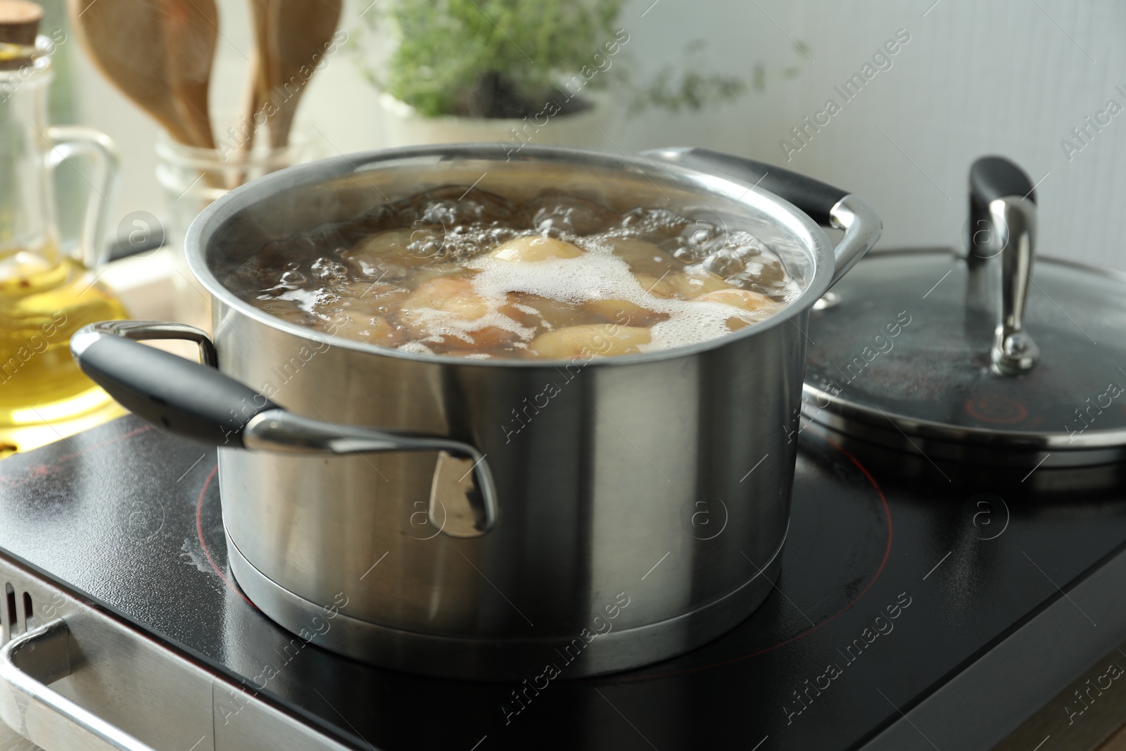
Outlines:
{"type": "Polygon", "coordinates": [[[410,105],[388,93],[381,93],[384,146],[494,142],[515,151],[521,144],[611,147],[602,133],[609,132],[613,101],[601,92],[583,93],[583,97],[592,106],[581,113],[551,117],[544,110],[535,117],[516,119],[423,117],[410,105]]]}

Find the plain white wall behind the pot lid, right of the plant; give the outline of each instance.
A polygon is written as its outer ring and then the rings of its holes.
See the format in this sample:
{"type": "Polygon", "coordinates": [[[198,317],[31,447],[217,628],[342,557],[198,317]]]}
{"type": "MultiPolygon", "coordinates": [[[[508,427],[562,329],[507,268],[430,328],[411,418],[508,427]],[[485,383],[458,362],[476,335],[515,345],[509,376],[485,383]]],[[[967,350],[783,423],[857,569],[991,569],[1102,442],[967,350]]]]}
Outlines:
{"type": "Polygon", "coordinates": [[[932,2],[661,0],[642,20],[662,29],[636,35],[649,55],[668,38],[707,33],[716,64],[735,69],[754,51],[774,59],[789,35],[814,62],[766,97],[699,117],[653,116],[619,143],[709,143],[785,164],[778,142],[789,128],[828,97],[843,101],[833,86],[905,28],[911,42],[893,66],[785,166],[867,198],[884,218],[882,245],[928,245],[958,241],[969,164],[1002,154],[1034,181],[1047,175],[1037,188],[1042,252],[1126,269],[1126,113],[1071,161],[1060,145],[1108,99],[1126,107],[1115,91],[1126,91],[1126,3],[940,0],[927,12],[932,2]]]}

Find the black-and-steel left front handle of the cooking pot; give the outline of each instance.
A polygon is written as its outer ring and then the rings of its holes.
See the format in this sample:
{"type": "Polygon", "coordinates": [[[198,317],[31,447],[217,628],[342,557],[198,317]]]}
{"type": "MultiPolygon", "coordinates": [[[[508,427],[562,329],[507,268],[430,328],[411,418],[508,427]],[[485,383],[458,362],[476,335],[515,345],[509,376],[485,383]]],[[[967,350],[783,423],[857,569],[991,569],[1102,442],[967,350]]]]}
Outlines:
{"type": "Polygon", "coordinates": [[[489,464],[476,447],[438,436],[338,426],[288,412],[220,373],[215,348],[199,329],[160,321],[102,321],[79,329],[70,346],[82,373],[123,406],[208,446],[324,455],[437,452],[431,507],[436,499],[464,497],[473,520],[459,525],[454,515],[443,512],[436,526],[452,537],[476,537],[495,524],[497,491],[489,464]],[[195,341],[202,363],[145,347],[138,341],[144,339],[195,341]]]}

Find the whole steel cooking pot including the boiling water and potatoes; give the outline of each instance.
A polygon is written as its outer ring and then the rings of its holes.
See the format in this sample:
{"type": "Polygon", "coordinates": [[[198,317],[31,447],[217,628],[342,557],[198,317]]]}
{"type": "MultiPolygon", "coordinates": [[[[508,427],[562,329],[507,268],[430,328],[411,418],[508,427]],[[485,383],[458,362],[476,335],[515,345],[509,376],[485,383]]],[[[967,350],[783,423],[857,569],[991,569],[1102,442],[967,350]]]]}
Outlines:
{"type": "Polygon", "coordinates": [[[771,590],[808,312],[878,234],[856,196],[700,150],[372,152],[199,216],[214,345],[107,322],[72,350],[218,446],[231,570],[300,637],[435,676],[589,676],[771,590]],[[203,364],[129,341],[152,338],[203,364]]]}

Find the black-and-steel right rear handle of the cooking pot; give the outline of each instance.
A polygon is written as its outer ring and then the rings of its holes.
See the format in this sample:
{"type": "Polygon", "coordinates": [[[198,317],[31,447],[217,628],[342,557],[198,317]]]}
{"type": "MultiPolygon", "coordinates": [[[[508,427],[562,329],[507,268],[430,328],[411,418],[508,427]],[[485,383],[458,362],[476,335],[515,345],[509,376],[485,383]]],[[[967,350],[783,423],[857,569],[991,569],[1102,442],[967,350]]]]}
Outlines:
{"type": "Polygon", "coordinates": [[[844,230],[833,252],[834,284],[872,250],[883,231],[879,217],[859,196],[781,167],[708,149],[658,149],[643,155],[749,182],[794,204],[817,224],[844,230]]]}

